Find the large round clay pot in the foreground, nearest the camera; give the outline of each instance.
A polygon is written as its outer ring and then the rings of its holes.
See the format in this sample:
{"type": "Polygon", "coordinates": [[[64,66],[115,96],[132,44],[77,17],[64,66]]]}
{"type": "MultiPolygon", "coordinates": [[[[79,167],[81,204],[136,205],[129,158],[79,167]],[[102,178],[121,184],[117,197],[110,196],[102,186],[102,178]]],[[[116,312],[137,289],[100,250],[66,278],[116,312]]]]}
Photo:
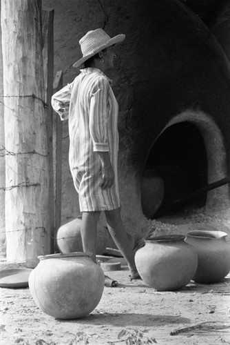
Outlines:
{"type": "Polygon", "coordinates": [[[103,294],[105,277],[91,253],[39,257],[29,287],[34,302],[58,319],[77,319],[91,313],[103,294]]]}

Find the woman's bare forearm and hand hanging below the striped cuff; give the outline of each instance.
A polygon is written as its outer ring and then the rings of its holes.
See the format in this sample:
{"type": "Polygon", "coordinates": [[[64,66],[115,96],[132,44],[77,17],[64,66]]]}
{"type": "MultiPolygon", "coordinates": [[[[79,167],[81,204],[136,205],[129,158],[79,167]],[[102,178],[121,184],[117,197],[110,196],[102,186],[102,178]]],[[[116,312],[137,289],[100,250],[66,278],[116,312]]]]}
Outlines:
{"type": "Polygon", "coordinates": [[[112,168],[111,161],[109,159],[109,152],[98,152],[101,159],[101,188],[111,188],[114,184],[114,170],[112,168]]]}

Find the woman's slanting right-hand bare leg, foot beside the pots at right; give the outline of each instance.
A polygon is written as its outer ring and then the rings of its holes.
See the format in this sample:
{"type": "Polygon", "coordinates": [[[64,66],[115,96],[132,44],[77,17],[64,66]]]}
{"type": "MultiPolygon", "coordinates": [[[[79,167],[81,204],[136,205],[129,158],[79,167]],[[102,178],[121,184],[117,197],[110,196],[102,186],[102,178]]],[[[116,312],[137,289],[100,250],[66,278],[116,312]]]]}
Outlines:
{"type": "Polygon", "coordinates": [[[127,260],[131,277],[134,279],[140,277],[134,262],[134,251],[132,249],[132,244],[129,242],[129,238],[127,237],[127,233],[121,220],[121,208],[105,211],[105,217],[110,235],[114,239],[114,242],[118,246],[118,249],[121,251],[123,257],[125,257],[127,260]]]}

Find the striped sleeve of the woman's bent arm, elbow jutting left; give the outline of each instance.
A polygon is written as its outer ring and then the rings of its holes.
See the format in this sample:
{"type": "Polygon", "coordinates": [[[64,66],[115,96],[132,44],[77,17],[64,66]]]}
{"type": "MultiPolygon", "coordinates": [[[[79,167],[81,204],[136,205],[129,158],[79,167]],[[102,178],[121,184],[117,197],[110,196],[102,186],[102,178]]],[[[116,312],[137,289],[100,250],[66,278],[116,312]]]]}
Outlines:
{"type": "Polygon", "coordinates": [[[71,84],[67,84],[67,86],[52,95],[52,108],[60,115],[62,121],[69,118],[70,97],[71,84]]]}

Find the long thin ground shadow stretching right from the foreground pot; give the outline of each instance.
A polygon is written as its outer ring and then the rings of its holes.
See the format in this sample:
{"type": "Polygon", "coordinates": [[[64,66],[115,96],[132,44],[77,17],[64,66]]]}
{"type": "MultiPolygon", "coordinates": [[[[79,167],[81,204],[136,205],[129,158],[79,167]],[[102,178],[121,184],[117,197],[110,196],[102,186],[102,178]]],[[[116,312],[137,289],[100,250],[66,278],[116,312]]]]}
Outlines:
{"type": "Polygon", "coordinates": [[[165,326],[167,324],[189,324],[190,319],[175,315],[154,315],[138,313],[98,313],[94,311],[83,319],[60,320],[59,322],[69,322],[77,324],[92,324],[94,326],[112,325],[125,327],[154,327],[165,326]]]}

